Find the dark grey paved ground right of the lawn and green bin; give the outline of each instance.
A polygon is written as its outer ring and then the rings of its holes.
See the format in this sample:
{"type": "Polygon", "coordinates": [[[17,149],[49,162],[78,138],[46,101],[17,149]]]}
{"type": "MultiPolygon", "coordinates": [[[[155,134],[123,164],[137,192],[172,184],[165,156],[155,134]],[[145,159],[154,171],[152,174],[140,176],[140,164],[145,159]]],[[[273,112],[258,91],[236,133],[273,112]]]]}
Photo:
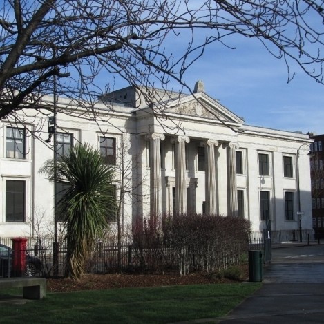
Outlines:
{"type": "Polygon", "coordinates": [[[263,287],[220,323],[324,323],[324,245],[273,249],[272,257],[263,287]]]}

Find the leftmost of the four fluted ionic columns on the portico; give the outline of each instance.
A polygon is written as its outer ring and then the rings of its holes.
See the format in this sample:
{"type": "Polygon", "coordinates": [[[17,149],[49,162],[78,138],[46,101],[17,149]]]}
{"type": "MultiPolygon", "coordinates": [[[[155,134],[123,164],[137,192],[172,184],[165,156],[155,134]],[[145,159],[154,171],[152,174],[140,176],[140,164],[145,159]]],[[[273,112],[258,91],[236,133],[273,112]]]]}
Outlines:
{"type": "Polygon", "coordinates": [[[161,149],[160,141],[164,140],[163,134],[152,133],[146,135],[150,141],[150,207],[151,216],[162,214],[162,182],[161,182],[161,149]]]}

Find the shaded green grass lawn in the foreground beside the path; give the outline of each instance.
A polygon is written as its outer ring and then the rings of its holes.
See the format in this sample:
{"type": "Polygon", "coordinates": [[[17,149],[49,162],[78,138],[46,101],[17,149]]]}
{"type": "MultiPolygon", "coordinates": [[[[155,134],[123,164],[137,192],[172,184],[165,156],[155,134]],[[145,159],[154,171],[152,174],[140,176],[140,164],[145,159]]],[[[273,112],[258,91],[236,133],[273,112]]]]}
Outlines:
{"type": "Polygon", "coordinates": [[[173,323],[217,318],[260,286],[234,283],[48,293],[44,300],[18,305],[3,303],[0,292],[0,322],[173,323]]]}

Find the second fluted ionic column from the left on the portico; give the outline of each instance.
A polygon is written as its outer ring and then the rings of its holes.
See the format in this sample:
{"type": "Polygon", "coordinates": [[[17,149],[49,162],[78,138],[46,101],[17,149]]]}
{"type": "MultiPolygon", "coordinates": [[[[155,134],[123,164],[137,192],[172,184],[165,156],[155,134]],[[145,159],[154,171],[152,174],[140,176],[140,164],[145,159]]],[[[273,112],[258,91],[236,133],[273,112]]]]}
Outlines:
{"type": "Polygon", "coordinates": [[[176,213],[187,213],[187,186],[186,186],[186,143],[189,137],[178,136],[171,140],[175,144],[175,204],[176,213]]]}

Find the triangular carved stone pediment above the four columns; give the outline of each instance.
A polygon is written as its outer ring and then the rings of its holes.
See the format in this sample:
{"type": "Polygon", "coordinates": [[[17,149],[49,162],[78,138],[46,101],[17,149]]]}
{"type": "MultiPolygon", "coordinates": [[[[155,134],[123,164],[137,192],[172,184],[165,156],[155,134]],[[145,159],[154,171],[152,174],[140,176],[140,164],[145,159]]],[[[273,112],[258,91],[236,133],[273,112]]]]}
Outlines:
{"type": "Polygon", "coordinates": [[[167,111],[196,117],[212,118],[222,122],[244,124],[244,120],[222,106],[218,100],[205,93],[188,95],[173,105],[167,111]]]}

